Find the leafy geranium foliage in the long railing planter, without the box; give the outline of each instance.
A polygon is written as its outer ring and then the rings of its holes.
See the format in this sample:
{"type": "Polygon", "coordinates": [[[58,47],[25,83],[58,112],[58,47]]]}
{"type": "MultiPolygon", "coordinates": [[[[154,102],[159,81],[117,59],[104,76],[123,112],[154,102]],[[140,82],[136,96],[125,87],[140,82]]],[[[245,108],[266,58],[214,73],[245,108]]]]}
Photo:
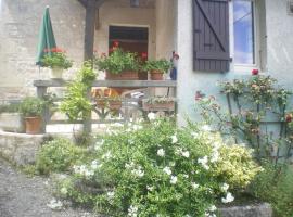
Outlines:
{"type": "Polygon", "coordinates": [[[139,71],[139,61],[136,53],[125,52],[120,48],[114,48],[109,55],[102,55],[97,60],[100,71],[119,74],[125,71],[139,71]]]}

